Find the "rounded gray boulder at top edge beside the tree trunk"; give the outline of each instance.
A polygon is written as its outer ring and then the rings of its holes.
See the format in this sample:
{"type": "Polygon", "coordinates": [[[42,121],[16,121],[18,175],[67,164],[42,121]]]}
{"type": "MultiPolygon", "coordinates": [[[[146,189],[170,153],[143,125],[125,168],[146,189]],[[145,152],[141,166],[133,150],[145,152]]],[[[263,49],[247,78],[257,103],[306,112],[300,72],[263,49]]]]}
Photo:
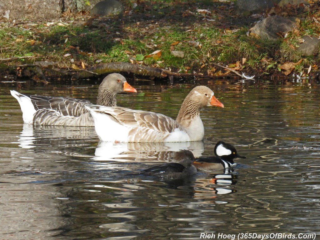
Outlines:
{"type": "Polygon", "coordinates": [[[116,0],[104,0],[95,4],[90,12],[92,15],[115,15],[124,11],[123,5],[116,0]]]}

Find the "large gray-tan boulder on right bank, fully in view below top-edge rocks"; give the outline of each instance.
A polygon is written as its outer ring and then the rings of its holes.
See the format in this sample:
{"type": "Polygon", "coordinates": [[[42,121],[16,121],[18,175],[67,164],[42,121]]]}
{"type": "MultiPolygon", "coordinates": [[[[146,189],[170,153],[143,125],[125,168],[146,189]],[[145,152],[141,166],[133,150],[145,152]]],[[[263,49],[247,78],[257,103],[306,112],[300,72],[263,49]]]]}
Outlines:
{"type": "Polygon", "coordinates": [[[277,33],[286,34],[296,27],[297,24],[293,20],[281,16],[269,16],[257,23],[251,29],[251,33],[261,39],[276,40],[279,37],[277,33]]]}

